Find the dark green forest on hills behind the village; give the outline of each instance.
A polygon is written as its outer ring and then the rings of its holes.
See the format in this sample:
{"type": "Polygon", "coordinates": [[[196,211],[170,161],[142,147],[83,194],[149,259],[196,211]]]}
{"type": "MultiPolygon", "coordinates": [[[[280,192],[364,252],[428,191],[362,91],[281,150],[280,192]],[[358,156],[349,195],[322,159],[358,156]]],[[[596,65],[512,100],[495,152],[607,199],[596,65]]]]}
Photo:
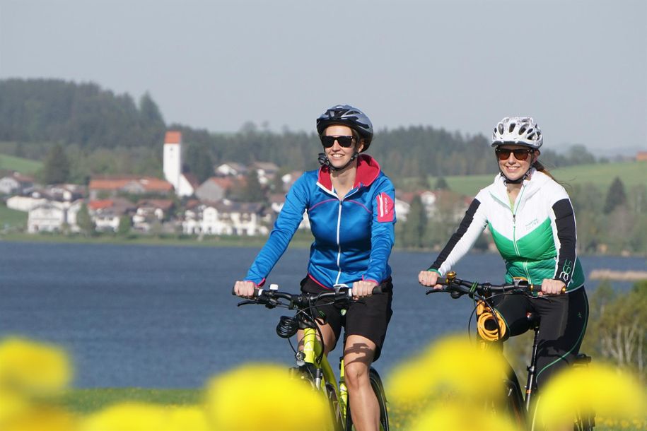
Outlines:
{"type": "MultiPolygon", "coordinates": [[[[253,119],[234,134],[167,124],[148,93],[136,102],[95,83],[6,79],[0,81],[0,95],[0,153],[43,160],[60,145],[73,165],[69,180],[76,182],[98,174],[160,175],[168,129],[182,131],[185,169],[199,179],[223,162],[273,162],[285,172],[313,169],[320,152],[314,131],[277,133],[253,119]]],[[[488,138],[436,126],[381,129],[369,153],[394,179],[496,172],[488,138]]],[[[542,160],[560,167],[593,163],[595,157],[574,146],[559,155],[545,149],[542,160]]]]}

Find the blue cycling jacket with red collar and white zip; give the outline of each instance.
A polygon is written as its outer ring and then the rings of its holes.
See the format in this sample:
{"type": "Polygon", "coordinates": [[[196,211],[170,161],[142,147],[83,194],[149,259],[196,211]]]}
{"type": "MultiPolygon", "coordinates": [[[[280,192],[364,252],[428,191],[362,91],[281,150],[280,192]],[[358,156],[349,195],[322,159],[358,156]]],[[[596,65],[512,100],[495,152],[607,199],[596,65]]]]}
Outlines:
{"type": "Polygon", "coordinates": [[[327,167],[305,172],[291,187],[269,239],[245,280],[262,285],[308,211],[315,241],[308,276],[325,288],[366,280],[380,283],[391,275],[389,255],[395,242],[395,189],[380,165],[359,155],[354,187],[340,199],[327,167]]]}

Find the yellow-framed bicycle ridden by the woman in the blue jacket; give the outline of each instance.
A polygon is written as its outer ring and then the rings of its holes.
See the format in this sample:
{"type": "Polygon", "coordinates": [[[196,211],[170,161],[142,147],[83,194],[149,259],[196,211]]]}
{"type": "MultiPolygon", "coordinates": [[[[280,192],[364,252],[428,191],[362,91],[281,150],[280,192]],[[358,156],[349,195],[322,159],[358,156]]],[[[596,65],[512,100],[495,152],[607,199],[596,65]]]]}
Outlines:
{"type": "MultiPolygon", "coordinates": [[[[380,286],[373,288],[374,294],[380,294],[380,286]]],[[[232,291],[232,294],[233,293],[232,291]]],[[[330,298],[331,304],[348,305],[352,298],[352,289],[345,286],[335,286],[334,291],[320,294],[299,293],[292,294],[281,292],[278,285],[270,285],[269,290],[259,289],[252,300],[238,303],[242,305],[259,304],[268,309],[281,307],[296,310],[293,317],[281,316],[276,326],[276,334],[286,338],[294,351],[296,367],[290,369],[293,377],[308,382],[314,391],[319,391],[327,398],[332,415],[333,430],[353,430],[348,389],[344,379],[344,357],[339,358],[339,382],[334,377],[328,358],[324,355],[325,346],[323,337],[315,319],[322,319],[317,314],[315,301],[330,298]],[[298,329],[303,329],[303,350],[297,350],[292,345],[290,338],[296,335],[298,329]],[[317,338],[317,335],[319,337],[317,338]]],[[[325,319],[325,317],[323,317],[325,319]]],[[[345,339],[344,339],[345,341],[345,339]]],[[[344,343],[345,344],[345,343],[344,343]]],[[[370,367],[368,373],[371,388],[378,398],[380,407],[380,430],[389,431],[389,418],[387,399],[380,374],[370,367]]]]}

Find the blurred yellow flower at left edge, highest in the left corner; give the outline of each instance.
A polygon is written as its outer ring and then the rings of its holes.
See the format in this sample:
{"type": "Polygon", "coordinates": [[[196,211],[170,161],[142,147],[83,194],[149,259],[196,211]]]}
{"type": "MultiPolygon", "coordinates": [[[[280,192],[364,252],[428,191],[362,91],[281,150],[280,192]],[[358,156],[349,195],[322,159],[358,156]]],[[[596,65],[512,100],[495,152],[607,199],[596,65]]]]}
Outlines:
{"type": "Polygon", "coordinates": [[[63,389],[70,379],[69,359],[62,348],[22,338],[0,343],[0,388],[48,394],[63,389]]]}

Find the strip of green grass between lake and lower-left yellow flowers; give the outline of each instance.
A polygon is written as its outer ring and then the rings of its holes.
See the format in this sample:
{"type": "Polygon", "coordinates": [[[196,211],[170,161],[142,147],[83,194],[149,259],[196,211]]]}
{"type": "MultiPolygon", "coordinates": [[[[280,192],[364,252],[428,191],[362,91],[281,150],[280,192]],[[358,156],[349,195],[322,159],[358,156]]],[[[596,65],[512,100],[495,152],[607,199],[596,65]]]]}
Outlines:
{"type": "Polygon", "coordinates": [[[91,413],[114,403],[140,401],[164,406],[202,403],[202,389],[95,388],[70,389],[59,399],[61,406],[74,413],[91,413]]]}

